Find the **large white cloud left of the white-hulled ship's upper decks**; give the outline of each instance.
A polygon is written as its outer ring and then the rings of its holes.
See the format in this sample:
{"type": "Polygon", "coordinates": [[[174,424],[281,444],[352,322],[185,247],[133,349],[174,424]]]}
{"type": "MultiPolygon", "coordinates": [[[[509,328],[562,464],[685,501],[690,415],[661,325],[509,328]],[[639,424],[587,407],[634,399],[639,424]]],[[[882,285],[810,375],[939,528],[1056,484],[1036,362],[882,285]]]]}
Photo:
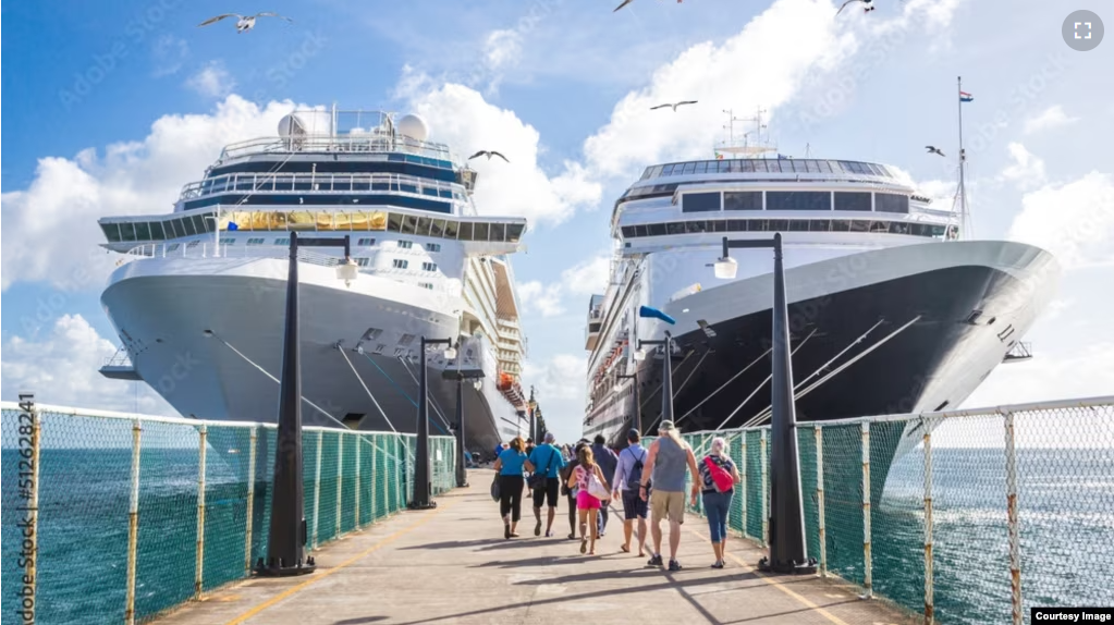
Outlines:
{"type": "Polygon", "coordinates": [[[115,257],[97,247],[97,219],[169,213],[182,186],[202,177],[229,143],[275,133],[292,102],[264,108],[229,96],[208,115],[167,115],[139,141],[111,144],[74,158],[39,159],[35,179],[0,196],[2,289],[46,281],[67,290],[101,286],[115,257]]]}

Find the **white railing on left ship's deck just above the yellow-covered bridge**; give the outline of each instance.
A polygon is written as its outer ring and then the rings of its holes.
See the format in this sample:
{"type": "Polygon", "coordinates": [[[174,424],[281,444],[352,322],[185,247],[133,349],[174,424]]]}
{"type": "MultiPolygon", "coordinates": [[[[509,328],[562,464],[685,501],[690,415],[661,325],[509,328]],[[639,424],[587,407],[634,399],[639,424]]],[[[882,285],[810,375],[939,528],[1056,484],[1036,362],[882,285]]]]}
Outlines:
{"type": "Polygon", "coordinates": [[[235,173],[192,182],[182,187],[178,199],[188,201],[226,193],[266,195],[388,193],[463,202],[468,195],[461,189],[462,187],[455,183],[405,174],[235,173]]]}

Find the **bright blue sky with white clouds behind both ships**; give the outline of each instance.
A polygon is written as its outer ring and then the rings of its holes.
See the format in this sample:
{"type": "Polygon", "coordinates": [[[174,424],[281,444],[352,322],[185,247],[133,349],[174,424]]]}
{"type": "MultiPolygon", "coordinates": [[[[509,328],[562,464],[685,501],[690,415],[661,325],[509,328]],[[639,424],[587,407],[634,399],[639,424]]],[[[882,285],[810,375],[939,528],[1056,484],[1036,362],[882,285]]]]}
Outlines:
{"type": "Polygon", "coordinates": [[[36,388],[55,403],[165,410],[96,377],[117,342],[98,302],[108,265],[96,218],[167,212],[221,145],[273,133],[289,102],[335,101],[419,110],[458,153],[508,153],[509,168],[478,166],[479,209],[531,219],[515,258],[525,382],[571,438],[610,206],[644,166],[711,155],[722,109],[762,106],[782,153],[896,165],[946,197],[955,160],[922,146],[954,155],[958,75],[976,96],[965,108],[976,234],[1067,260],[1029,335],[1037,359],[999,368],[969,404],[1114,392],[1101,325],[1114,304],[1114,84],[1103,78],[1114,42],[1068,49],[1069,11],[1056,3],[876,4],[833,19],[827,0],[637,0],[617,13],[587,0],[9,3],[2,397],[36,388]],[[196,27],[229,9],[295,21],[196,27]],[[686,98],[701,105],[647,115],[686,98]]]}

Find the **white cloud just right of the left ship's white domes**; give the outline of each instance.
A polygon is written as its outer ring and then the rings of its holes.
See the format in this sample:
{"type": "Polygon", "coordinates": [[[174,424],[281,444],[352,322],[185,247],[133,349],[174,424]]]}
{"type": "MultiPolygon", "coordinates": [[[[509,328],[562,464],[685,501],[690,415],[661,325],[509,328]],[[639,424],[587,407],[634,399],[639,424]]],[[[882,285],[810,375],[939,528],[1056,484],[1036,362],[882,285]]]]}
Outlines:
{"type": "Polygon", "coordinates": [[[520,215],[538,223],[558,224],[577,207],[594,206],[603,189],[588,179],[578,164],[566,162],[550,177],[538,164],[543,147],[538,131],[514,111],[487,102],[483,96],[462,85],[437,86],[424,75],[405,70],[398,96],[430,124],[430,139],[448,144],[461,155],[481,149],[504,154],[501,158],[477,158],[471,166],[479,173],[475,201],[482,215],[520,215]]]}

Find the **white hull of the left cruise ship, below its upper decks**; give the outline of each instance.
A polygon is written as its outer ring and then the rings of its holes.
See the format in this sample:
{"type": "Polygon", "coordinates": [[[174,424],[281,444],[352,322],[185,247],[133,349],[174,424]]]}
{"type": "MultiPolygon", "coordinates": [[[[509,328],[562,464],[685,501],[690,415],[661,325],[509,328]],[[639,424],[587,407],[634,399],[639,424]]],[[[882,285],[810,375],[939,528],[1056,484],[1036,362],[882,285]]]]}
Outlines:
{"type": "MultiPolygon", "coordinates": [[[[182,414],[275,422],[287,267],[277,258],[144,258],[116,270],[101,303],[136,373],[182,414]]],[[[299,273],[303,423],[416,431],[419,340],[456,339],[461,299],[368,274],[345,286],[314,264],[299,273]]],[[[463,361],[485,372],[481,389],[463,383],[466,447],[480,453],[518,431],[492,361],[463,361]]],[[[450,433],[457,382],[442,378],[441,353],[427,365],[430,432],[450,433]]]]}

